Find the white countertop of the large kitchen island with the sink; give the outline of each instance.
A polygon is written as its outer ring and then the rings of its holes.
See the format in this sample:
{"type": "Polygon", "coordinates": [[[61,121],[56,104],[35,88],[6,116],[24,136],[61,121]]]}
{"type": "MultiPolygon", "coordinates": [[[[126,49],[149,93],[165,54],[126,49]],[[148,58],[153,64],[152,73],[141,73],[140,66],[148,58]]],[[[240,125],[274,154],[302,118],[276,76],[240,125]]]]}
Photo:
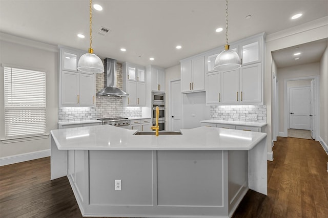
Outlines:
{"type": "Polygon", "coordinates": [[[97,125],[51,130],[59,150],[250,150],[267,136],[215,127],[181,129],[182,135],[133,135],[137,130],[97,125]]]}

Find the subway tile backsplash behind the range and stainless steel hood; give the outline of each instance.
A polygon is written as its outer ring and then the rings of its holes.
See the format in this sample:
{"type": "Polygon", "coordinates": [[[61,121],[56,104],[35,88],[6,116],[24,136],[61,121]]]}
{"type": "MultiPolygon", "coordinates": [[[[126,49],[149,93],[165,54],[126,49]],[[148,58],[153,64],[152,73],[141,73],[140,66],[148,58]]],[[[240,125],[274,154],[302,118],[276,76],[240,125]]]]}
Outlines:
{"type": "MultiPolygon", "coordinates": [[[[117,63],[117,87],[122,89],[122,64],[117,63]]],[[[107,83],[104,73],[96,74],[96,92],[107,83]]],[[[106,117],[141,117],[141,107],[123,107],[123,97],[97,96],[95,107],[59,107],[58,121],[94,120],[106,117]]]]}

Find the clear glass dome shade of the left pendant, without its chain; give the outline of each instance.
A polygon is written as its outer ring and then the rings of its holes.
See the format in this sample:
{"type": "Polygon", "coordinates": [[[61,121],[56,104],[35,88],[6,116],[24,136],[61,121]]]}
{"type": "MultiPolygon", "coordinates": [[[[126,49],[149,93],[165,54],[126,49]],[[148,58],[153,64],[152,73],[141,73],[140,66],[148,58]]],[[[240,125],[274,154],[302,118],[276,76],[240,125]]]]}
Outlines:
{"type": "Polygon", "coordinates": [[[77,70],[84,73],[103,73],[104,64],[97,55],[86,53],[78,60],[77,70]]]}

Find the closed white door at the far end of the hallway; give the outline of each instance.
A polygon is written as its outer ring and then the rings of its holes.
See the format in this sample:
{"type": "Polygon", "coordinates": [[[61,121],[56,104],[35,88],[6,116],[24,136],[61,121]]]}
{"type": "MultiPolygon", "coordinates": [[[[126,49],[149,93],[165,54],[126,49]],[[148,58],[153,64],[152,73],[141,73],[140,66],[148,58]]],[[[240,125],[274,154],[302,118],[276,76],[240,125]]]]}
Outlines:
{"type": "Polygon", "coordinates": [[[310,130],[310,87],[290,88],[290,126],[310,130]]]}

